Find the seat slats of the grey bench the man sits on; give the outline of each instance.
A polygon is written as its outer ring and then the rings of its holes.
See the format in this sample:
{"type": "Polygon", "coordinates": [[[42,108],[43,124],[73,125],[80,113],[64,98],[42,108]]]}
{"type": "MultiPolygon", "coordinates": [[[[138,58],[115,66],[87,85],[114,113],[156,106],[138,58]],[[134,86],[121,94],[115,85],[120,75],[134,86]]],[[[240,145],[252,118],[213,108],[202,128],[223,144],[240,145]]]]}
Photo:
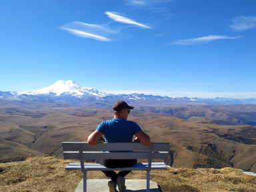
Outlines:
{"type": "MultiPolygon", "coordinates": [[[[148,163],[136,163],[131,167],[124,168],[107,168],[99,163],[85,163],[85,171],[111,171],[111,170],[122,170],[122,171],[141,171],[147,170],[148,163]]],[[[80,163],[69,163],[66,170],[81,170],[80,163]]],[[[151,164],[151,169],[167,169],[164,162],[153,162],[151,164]]]]}

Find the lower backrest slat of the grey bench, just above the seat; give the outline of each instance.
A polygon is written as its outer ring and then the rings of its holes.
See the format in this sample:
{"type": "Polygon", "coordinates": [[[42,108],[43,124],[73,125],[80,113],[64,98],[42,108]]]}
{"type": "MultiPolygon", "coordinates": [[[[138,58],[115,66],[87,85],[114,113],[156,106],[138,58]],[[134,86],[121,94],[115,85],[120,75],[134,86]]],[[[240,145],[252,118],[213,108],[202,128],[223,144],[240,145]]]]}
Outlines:
{"type": "MultiPolygon", "coordinates": [[[[64,159],[80,159],[79,151],[64,151],[64,159]]],[[[152,159],[167,159],[167,151],[152,153],[152,159]]],[[[83,159],[148,159],[145,151],[96,151],[83,152],[83,159]]]]}

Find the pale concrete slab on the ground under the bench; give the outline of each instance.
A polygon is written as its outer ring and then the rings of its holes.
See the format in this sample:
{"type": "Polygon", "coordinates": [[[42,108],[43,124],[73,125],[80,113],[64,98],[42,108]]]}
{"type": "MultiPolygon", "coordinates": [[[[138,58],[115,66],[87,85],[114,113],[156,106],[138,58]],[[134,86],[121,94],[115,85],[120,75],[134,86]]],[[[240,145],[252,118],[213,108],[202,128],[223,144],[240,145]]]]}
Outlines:
{"type": "MultiPolygon", "coordinates": [[[[109,192],[107,186],[109,179],[88,179],[87,180],[87,192],[109,192]]],[[[125,192],[145,192],[147,189],[146,179],[126,179],[125,180],[126,190],[125,192]]],[[[118,187],[117,187],[118,190],[118,187]]],[[[83,192],[83,179],[77,185],[75,192],[83,192]]],[[[160,192],[157,183],[150,181],[150,192],[160,192]]]]}

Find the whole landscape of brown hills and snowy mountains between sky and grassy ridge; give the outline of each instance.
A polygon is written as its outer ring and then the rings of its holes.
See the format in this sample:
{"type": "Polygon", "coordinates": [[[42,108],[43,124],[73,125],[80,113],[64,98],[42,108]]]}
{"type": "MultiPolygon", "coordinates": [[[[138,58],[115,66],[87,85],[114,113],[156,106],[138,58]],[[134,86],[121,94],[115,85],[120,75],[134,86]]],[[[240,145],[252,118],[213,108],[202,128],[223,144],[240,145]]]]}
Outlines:
{"type": "Polygon", "coordinates": [[[111,107],[119,99],[135,106],[129,120],[137,122],[153,142],[171,144],[169,165],[256,172],[254,104],[110,95],[72,81],[27,94],[0,93],[0,161],[43,154],[61,158],[61,143],[86,141],[100,122],[113,118],[111,107]]]}

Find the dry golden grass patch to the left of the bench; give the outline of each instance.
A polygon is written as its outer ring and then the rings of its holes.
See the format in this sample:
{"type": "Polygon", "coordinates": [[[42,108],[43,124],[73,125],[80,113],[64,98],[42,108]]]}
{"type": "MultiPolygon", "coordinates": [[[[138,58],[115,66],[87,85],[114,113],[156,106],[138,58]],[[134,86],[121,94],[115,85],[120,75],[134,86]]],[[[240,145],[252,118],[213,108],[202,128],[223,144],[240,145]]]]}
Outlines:
{"type": "Polygon", "coordinates": [[[0,191],[75,191],[82,175],[65,171],[68,161],[31,157],[0,164],[0,191]]]}

